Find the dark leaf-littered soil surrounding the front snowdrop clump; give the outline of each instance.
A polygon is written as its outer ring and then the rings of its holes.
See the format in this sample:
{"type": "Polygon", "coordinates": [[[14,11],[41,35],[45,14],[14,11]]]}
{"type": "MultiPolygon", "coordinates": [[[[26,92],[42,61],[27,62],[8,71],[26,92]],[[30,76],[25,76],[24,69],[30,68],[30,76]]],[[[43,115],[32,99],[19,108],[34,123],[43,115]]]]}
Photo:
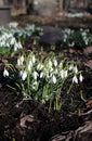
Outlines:
{"type": "Polygon", "coordinates": [[[92,110],[91,51],[92,47],[82,52],[61,50],[63,59],[81,63],[84,77],[82,84],[74,86],[70,94],[66,94],[66,89],[61,91],[61,97],[65,101],[61,111],[49,112],[48,103],[25,101],[22,95],[12,92],[6,84],[15,79],[3,78],[3,67],[0,65],[0,141],[78,141],[74,140],[75,130],[84,125],[84,121],[92,120],[92,113],[87,114],[92,110]],[[82,90],[82,97],[79,90],[82,90]]]}

